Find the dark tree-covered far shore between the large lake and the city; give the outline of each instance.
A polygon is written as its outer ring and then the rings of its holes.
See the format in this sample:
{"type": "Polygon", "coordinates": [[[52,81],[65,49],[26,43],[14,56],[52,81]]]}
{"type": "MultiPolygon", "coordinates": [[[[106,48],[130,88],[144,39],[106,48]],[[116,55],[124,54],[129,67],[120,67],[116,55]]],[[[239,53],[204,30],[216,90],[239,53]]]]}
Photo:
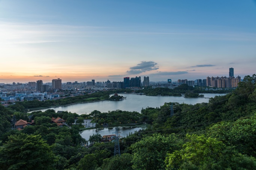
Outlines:
{"type": "Polygon", "coordinates": [[[223,89],[223,90],[206,90],[202,87],[193,87],[188,86],[187,84],[182,84],[174,89],[169,88],[144,88],[139,89],[137,91],[132,91],[131,89],[115,89],[115,90],[107,90],[107,91],[97,91],[91,94],[79,95],[74,97],[66,97],[58,100],[33,100],[33,101],[23,101],[23,102],[16,102],[15,104],[10,105],[9,107],[17,110],[17,111],[26,111],[26,110],[39,110],[42,108],[50,108],[50,107],[58,107],[58,106],[66,106],[75,103],[83,103],[83,102],[93,102],[93,101],[101,101],[101,100],[122,100],[124,97],[117,96],[117,97],[109,97],[110,94],[115,93],[137,93],[137,94],[145,94],[145,95],[152,95],[152,96],[182,96],[182,94],[189,94],[185,95],[185,97],[202,97],[199,96],[198,93],[228,93],[231,92],[233,89],[223,89]],[[196,95],[198,94],[198,95],[196,95]]]}

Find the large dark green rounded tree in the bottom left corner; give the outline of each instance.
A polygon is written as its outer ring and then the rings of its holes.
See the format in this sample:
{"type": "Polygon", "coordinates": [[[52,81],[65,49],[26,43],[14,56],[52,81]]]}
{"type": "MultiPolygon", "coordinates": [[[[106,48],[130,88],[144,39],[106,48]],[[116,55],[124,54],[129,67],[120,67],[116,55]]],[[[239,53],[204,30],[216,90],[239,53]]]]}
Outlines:
{"type": "Polygon", "coordinates": [[[39,135],[10,135],[0,148],[0,167],[3,170],[52,169],[54,154],[39,135]]]}

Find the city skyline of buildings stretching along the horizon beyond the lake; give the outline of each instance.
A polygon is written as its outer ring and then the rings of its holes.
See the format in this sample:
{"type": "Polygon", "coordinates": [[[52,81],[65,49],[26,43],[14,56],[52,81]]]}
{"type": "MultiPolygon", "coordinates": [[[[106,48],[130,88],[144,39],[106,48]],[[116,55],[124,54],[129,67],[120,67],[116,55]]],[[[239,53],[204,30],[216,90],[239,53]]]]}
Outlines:
{"type": "Polygon", "coordinates": [[[13,84],[3,84],[0,83],[4,88],[0,89],[1,104],[6,104],[7,102],[14,103],[15,101],[24,100],[52,100],[64,97],[71,97],[76,95],[83,95],[83,92],[94,92],[98,90],[107,90],[112,88],[131,88],[139,89],[142,86],[152,86],[152,88],[175,88],[181,84],[188,84],[189,86],[209,86],[216,88],[235,88],[241,81],[241,77],[234,77],[234,69],[229,68],[229,76],[222,77],[207,77],[206,79],[197,79],[195,81],[187,79],[178,79],[177,82],[172,82],[171,78],[167,81],[162,82],[150,82],[149,77],[144,76],[141,82],[141,77],[124,77],[124,81],[121,82],[95,82],[94,79],[88,82],[67,82],[62,83],[60,78],[53,79],[52,82],[43,83],[42,80],[37,80],[36,82],[28,82],[27,84],[15,83],[13,84]],[[61,91],[61,89],[68,90],[61,91]],[[15,91],[15,92],[14,92],[15,91]]]}

